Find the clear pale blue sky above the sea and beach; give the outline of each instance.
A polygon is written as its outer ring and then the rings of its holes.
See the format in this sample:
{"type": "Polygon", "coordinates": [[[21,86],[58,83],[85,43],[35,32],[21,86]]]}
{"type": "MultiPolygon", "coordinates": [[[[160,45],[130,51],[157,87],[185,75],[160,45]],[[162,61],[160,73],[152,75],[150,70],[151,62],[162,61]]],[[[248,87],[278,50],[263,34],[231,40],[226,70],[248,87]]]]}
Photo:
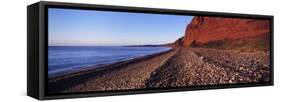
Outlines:
{"type": "Polygon", "coordinates": [[[49,46],[167,44],[192,16],[49,8],[49,46]]]}

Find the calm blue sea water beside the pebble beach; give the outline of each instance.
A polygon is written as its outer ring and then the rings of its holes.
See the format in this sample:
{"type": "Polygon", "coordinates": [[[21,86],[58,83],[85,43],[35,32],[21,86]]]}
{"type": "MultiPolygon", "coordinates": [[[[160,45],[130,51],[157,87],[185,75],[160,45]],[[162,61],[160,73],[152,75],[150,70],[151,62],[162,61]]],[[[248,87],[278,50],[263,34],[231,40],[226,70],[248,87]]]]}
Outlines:
{"type": "Polygon", "coordinates": [[[170,50],[169,47],[49,46],[48,75],[112,64],[170,50]]]}

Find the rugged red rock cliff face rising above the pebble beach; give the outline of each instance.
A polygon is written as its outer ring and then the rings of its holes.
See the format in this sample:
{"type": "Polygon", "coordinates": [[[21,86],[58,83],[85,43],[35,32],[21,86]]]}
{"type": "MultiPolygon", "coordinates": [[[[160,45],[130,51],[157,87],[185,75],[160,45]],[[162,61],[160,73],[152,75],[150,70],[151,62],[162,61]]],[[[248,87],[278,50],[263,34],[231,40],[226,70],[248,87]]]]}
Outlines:
{"type": "MultiPolygon", "coordinates": [[[[196,16],[187,26],[184,46],[224,39],[244,39],[270,34],[270,21],[262,19],[196,16]]],[[[266,37],[269,38],[269,37],[266,37]]]]}

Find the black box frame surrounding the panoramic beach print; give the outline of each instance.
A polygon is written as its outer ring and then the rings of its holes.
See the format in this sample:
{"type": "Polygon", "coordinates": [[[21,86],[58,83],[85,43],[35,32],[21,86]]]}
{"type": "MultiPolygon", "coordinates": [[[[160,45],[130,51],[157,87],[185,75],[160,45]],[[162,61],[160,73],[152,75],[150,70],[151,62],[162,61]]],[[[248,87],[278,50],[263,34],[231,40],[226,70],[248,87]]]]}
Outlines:
{"type": "Polygon", "coordinates": [[[124,95],[124,94],[143,94],[143,93],[159,93],[189,90],[205,90],[205,89],[222,89],[222,88],[240,88],[254,86],[272,86],[273,81],[273,16],[269,15],[252,15],[237,13],[218,13],[205,11],[187,11],[173,9],[156,9],[156,8],[140,8],[140,7],[124,7],[109,5],[93,5],[93,4],[77,4],[62,2],[46,2],[28,6],[28,71],[27,71],[27,94],[31,97],[45,99],[59,98],[80,98],[89,96],[108,96],[108,95],[124,95]],[[69,93],[69,94],[48,94],[48,8],[66,8],[66,9],[83,9],[83,10],[102,10],[102,11],[118,11],[118,12],[135,12],[135,13],[153,13],[153,14],[170,14],[170,15],[192,15],[192,16],[219,16],[219,17],[235,17],[235,18],[252,18],[252,19],[268,19],[270,20],[270,82],[269,83],[246,83],[246,84],[226,84],[215,86],[194,86],[188,88],[158,88],[158,89],[135,89],[124,91],[103,91],[103,92],[86,92],[86,93],[69,93]]]}

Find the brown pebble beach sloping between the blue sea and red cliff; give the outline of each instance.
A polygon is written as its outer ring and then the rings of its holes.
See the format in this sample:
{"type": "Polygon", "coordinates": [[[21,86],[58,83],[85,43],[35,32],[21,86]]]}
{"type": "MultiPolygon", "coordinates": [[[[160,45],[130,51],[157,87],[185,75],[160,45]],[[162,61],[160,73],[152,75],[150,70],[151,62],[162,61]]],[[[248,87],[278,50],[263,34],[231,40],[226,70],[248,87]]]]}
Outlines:
{"type": "Polygon", "coordinates": [[[105,70],[51,79],[48,90],[71,93],[269,82],[269,55],[264,51],[179,47],[105,70]]]}

